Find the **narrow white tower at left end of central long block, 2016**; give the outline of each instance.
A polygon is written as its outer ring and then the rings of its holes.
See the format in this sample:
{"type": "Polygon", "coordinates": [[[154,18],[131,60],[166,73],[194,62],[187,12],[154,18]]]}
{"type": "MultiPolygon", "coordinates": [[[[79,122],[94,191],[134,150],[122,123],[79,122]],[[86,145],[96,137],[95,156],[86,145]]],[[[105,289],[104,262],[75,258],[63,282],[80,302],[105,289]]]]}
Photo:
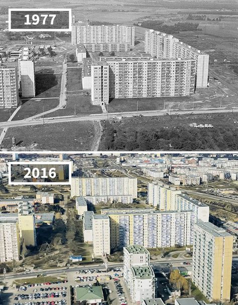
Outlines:
{"type": "Polygon", "coordinates": [[[110,221],[107,215],[93,215],[92,240],[94,256],[110,254],[110,221]]]}

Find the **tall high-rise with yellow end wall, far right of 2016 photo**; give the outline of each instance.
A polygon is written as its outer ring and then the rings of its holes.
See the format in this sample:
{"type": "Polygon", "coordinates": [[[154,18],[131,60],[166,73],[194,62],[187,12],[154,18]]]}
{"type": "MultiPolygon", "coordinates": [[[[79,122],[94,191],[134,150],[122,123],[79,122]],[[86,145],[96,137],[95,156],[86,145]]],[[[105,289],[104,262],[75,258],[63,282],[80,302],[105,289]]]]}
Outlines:
{"type": "Polygon", "coordinates": [[[192,281],[209,301],[229,301],[233,236],[211,223],[194,226],[192,281]]]}

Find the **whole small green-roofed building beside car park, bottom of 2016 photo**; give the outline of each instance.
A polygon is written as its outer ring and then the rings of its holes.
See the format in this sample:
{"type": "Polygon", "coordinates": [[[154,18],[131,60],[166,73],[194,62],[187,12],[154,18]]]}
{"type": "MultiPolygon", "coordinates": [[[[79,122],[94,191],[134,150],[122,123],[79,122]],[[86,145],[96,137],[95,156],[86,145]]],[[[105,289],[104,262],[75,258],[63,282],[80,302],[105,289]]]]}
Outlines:
{"type": "Polygon", "coordinates": [[[83,304],[95,304],[104,301],[101,286],[76,287],[75,299],[83,304]]]}

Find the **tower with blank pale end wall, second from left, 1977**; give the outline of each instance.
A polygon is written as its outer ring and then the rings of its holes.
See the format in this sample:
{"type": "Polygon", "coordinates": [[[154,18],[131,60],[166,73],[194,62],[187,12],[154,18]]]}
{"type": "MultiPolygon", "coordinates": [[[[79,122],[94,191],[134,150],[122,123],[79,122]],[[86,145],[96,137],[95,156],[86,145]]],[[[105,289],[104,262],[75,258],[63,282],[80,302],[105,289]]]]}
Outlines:
{"type": "Polygon", "coordinates": [[[19,82],[22,97],[36,96],[35,64],[33,50],[24,47],[19,56],[19,82]]]}

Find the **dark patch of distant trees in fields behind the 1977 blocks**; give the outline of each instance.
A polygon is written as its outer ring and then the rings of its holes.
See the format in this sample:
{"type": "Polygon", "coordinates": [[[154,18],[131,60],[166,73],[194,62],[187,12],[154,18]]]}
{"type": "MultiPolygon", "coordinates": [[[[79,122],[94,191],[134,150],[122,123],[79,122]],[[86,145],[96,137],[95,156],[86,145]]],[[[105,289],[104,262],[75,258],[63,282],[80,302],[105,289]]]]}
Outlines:
{"type": "MultiPolygon", "coordinates": [[[[198,29],[198,23],[191,22],[178,22],[174,26],[165,25],[162,21],[143,21],[140,24],[140,26],[143,28],[153,29],[155,31],[161,31],[167,34],[177,34],[185,31],[201,31],[198,29]]],[[[138,24],[134,25],[137,26],[138,24]]]]}

